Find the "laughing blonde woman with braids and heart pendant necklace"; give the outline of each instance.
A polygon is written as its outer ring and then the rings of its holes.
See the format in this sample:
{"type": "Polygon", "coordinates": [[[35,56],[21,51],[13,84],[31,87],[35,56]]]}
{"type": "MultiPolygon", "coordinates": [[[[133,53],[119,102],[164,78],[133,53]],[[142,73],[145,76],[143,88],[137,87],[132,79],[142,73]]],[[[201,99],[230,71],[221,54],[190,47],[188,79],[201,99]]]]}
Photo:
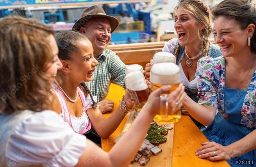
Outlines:
{"type": "MultiPolygon", "coordinates": [[[[211,33],[211,12],[201,0],[181,0],[174,9],[174,21],[178,38],[166,42],[163,51],[174,54],[176,64],[181,69],[185,92],[192,100],[197,101],[197,61],[204,56],[216,58],[222,54],[219,46],[208,40],[211,33]]],[[[152,65],[152,60],[146,65],[146,78],[149,78],[152,65]]],[[[182,113],[187,114],[187,111],[182,109],[182,113]]],[[[200,123],[194,122],[202,127],[200,123]]]]}

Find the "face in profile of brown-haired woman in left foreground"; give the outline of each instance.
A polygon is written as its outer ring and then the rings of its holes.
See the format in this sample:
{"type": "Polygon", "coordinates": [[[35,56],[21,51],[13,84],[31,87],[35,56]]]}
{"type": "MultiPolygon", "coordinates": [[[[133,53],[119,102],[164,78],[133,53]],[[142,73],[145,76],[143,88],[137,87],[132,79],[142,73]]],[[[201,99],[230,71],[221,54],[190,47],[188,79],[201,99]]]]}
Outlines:
{"type": "Polygon", "coordinates": [[[47,66],[46,66],[46,73],[48,75],[50,75],[50,82],[54,82],[54,77],[57,73],[57,70],[58,69],[61,69],[62,68],[62,63],[58,57],[58,46],[57,46],[57,43],[55,41],[55,38],[53,35],[50,35],[48,38],[48,41],[49,41],[49,45],[51,47],[51,50],[52,50],[52,53],[53,53],[53,62],[49,63],[47,66]]]}

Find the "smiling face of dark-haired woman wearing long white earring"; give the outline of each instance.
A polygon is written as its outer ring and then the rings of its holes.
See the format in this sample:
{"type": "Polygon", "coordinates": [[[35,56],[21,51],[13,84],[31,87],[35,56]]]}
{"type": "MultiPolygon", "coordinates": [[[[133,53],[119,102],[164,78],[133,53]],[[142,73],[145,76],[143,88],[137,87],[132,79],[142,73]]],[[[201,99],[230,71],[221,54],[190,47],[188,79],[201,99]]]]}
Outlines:
{"type": "Polygon", "coordinates": [[[219,16],[213,25],[214,41],[219,44],[224,57],[240,56],[249,49],[247,46],[247,30],[242,30],[238,21],[219,16]]]}

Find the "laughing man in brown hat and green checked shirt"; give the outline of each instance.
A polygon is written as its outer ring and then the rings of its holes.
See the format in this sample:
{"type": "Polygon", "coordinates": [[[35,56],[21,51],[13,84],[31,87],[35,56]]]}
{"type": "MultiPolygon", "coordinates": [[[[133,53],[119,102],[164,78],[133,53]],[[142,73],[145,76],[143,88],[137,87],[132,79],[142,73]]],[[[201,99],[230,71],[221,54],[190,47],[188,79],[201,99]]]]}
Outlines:
{"type": "Polygon", "coordinates": [[[86,8],[72,30],[87,36],[93,47],[94,57],[99,65],[93,73],[91,82],[86,83],[94,96],[97,96],[101,112],[112,111],[114,103],[104,100],[109,92],[110,83],[125,88],[125,64],[112,51],[106,49],[111,40],[111,33],[118,27],[115,17],[106,15],[101,6],[86,8]]]}

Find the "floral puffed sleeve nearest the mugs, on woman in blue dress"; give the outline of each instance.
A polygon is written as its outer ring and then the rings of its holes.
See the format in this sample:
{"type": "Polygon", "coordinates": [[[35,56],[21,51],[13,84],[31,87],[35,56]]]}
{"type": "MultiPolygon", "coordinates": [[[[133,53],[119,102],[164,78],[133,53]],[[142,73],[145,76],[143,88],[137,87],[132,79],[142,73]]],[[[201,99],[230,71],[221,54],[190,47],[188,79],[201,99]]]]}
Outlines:
{"type": "Polygon", "coordinates": [[[195,79],[198,89],[198,103],[217,108],[218,82],[214,78],[212,58],[204,57],[198,60],[195,79]]]}

